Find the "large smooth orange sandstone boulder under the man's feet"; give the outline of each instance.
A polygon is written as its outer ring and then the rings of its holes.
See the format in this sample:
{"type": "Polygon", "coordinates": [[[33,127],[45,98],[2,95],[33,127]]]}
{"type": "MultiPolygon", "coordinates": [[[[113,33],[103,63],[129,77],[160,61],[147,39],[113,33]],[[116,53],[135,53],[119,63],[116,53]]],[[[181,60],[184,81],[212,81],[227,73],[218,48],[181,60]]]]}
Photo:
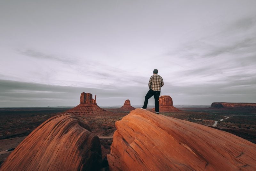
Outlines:
{"type": "Polygon", "coordinates": [[[136,109],[116,122],[111,171],[256,170],[256,144],[204,125],[136,109]]]}

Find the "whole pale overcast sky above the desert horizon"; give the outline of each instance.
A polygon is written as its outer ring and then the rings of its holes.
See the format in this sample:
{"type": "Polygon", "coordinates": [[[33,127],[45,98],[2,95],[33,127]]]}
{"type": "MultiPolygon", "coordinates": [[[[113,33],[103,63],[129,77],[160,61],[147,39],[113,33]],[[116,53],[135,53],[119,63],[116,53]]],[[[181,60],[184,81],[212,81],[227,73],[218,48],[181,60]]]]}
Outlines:
{"type": "Polygon", "coordinates": [[[256,103],[255,0],[1,0],[0,107],[256,103]],[[149,100],[154,104],[154,99],[149,100]]]}

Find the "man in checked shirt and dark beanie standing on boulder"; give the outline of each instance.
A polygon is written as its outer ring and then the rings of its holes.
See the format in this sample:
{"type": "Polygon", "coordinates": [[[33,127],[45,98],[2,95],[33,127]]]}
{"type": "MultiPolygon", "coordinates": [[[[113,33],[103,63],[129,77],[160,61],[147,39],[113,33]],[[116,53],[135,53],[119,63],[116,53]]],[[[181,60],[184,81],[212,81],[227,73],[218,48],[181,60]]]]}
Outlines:
{"type": "Polygon", "coordinates": [[[161,92],[161,87],[163,87],[164,85],[164,81],[163,78],[157,74],[158,70],[154,69],[153,74],[148,82],[148,93],[145,96],[145,101],[144,101],[144,106],[140,109],[146,110],[147,109],[147,105],[148,105],[148,99],[152,96],[154,96],[155,98],[155,111],[156,114],[159,114],[159,96],[160,96],[160,92],[161,92]]]}

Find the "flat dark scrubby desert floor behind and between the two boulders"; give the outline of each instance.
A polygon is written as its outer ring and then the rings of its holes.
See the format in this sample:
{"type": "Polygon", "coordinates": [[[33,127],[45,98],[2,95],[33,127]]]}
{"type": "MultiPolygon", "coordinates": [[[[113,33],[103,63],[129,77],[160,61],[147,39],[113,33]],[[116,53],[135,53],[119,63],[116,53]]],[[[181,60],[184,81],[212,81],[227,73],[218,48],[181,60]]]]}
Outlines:
{"type": "MultiPolygon", "coordinates": [[[[70,108],[0,108],[0,165],[12,153],[12,148],[18,146],[37,126],[67,109],[70,108]]],[[[129,111],[105,109],[112,113],[108,116],[81,116],[92,132],[100,137],[103,159],[110,153],[112,136],[116,130],[115,122],[129,114],[129,111]]],[[[160,111],[160,114],[210,127],[214,125],[215,121],[223,119],[217,123],[216,127],[212,128],[233,133],[256,143],[256,110],[221,110],[196,107],[179,109],[180,111],[177,112],[160,111]]]]}

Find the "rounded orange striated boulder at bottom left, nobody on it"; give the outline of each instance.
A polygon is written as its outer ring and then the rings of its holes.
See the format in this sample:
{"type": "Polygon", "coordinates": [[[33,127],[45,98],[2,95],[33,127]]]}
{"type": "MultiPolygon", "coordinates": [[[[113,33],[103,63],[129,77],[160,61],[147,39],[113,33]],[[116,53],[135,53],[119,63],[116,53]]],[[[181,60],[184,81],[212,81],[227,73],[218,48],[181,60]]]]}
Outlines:
{"type": "Polygon", "coordinates": [[[2,164],[1,171],[100,170],[99,138],[78,117],[54,116],[26,137],[2,164]]]}

